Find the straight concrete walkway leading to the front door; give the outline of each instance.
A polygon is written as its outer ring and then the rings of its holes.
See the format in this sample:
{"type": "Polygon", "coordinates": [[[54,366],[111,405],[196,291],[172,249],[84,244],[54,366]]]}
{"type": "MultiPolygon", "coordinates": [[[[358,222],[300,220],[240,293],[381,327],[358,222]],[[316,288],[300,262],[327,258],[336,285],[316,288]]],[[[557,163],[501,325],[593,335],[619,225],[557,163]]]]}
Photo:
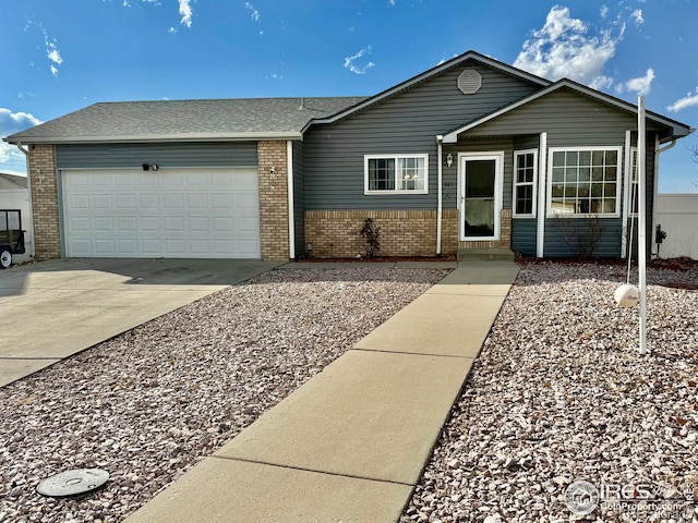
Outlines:
{"type": "Polygon", "coordinates": [[[517,275],[454,270],[127,522],[397,521],[517,275]]]}

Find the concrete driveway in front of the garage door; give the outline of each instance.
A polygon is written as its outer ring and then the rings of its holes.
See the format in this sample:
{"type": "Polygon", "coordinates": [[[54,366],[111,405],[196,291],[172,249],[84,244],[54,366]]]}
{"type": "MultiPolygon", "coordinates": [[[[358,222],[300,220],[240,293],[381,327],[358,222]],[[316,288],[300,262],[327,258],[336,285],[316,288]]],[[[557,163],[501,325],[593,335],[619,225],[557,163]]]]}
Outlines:
{"type": "Polygon", "coordinates": [[[0,270],[0,387],[279,265],[61,259],[0,270]]]}

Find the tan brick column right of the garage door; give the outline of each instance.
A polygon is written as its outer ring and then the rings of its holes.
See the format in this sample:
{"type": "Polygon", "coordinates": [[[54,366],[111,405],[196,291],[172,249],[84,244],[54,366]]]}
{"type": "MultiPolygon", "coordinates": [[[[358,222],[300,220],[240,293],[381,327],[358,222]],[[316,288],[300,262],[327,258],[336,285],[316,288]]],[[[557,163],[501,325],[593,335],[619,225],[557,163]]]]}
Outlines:
{"type": "Polygon", "coordinates": [[[286,142],[257,144],[262,259],[289,258],[288,168],[286,142]]]}

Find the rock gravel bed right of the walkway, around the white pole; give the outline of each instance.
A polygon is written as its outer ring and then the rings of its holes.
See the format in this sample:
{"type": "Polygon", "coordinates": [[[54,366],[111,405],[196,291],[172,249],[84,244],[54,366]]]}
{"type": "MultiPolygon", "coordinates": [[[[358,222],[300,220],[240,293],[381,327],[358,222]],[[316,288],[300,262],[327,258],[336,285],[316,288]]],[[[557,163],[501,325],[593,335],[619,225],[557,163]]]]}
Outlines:
{"type": "Polygon", "coordinates": [[[642,356],[624,267],[525,266],[400,522],[698,521],[698,291],[667,281],[698,269],[650,269],[642,356]],[[575,516],[578,479],[633,502],[575,516]]]}

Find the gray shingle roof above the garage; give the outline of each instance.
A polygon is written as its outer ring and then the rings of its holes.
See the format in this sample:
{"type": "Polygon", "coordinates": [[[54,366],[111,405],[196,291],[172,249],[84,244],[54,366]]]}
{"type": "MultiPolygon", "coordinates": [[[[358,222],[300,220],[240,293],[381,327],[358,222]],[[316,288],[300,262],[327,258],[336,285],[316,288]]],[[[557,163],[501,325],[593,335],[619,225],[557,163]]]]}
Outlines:
{"type": "Polygon", "coordinates": [[[10,143],[86,143],[300,137],[314,118],[364,97],[238,98],[100,102],[4,138],[10,143]]]}

